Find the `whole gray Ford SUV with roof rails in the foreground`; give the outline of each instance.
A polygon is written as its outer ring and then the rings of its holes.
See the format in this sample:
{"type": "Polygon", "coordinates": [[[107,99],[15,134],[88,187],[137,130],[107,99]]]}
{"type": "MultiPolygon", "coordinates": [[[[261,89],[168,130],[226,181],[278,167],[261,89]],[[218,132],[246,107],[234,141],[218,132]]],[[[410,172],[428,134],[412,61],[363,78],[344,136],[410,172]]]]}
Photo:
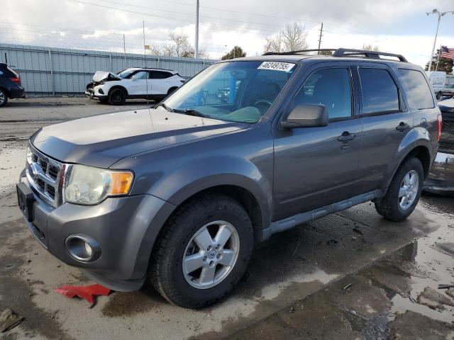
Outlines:
{"type": "Polygon", "coordinates": [[[197,308],[276,232],[370,200],[406,219],[441,134],[423,70],[382,52],[308,52],[218,62],[154,108],[38,130],[17,185],[28,228],[108,288],[149,280],[197,308]]]}

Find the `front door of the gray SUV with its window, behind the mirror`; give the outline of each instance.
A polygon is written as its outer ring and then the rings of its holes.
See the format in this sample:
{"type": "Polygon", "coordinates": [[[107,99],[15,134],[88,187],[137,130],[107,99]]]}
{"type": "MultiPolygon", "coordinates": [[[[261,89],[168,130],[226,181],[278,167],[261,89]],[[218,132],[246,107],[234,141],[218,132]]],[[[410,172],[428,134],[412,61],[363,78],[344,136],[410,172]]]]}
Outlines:
{"type": "Polygon", "coordinates": [[[328,125],[275,131],[273,220],[358,194],[362,124],[355,115],[350,66],[336,65],[314,69],[292,104],[323,104],[328,125]]]}

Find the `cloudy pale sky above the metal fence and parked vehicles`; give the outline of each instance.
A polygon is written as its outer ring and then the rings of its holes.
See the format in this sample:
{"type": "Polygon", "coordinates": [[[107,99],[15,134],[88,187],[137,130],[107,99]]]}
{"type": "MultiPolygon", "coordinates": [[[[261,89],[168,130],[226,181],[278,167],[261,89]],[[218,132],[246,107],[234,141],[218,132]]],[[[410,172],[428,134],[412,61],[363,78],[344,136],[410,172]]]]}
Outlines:
{"type": "MultiPolygon", "coordinates": [[[[195,37],[196,0],[0,0],[0,42],[143,53],[172,32],[195,37]]],[[[361,48],[404,55],[424,66],[430,59],[438,16],[453,0],[200,0],[199,48],[218,59],[234,45],[261,55],[265,38],[287,23],[307,31],[309,47],[361,48]]],[[[437,39],[454,47],[454,15],[442,17],[437,39]]]]}

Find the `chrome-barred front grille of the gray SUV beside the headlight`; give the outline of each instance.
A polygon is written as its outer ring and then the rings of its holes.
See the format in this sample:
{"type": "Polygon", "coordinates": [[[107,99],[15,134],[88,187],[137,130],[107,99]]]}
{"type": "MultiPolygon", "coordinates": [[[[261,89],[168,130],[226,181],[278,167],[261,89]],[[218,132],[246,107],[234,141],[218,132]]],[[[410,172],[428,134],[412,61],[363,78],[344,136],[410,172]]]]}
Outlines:
{"type": "Polygon", "coordinates": [[[27,153],[26,175],[33,191],[53,207],[62,203],[65,164],[45,156],[33,146],[27,153]]]}

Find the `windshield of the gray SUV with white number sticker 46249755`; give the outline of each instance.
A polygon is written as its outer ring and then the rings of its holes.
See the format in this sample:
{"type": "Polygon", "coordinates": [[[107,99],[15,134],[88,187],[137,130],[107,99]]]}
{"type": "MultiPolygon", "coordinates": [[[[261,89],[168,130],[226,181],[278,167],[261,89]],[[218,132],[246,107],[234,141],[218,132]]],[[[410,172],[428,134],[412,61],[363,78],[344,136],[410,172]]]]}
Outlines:
{"type": "Polygon", "coordinates": [[[164,103],[176,112],[256,123],[294,69],[295,64],[287,62],[221,62],[197,74],[164,103]]]}

